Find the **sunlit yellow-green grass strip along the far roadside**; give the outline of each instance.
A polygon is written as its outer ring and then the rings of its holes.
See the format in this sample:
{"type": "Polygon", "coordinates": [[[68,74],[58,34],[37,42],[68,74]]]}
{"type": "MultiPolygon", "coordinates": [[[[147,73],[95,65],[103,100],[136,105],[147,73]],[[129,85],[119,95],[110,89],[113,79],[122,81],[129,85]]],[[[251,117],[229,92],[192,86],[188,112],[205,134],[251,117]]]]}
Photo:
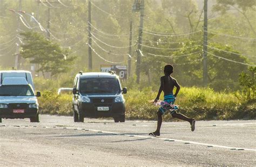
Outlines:
{"type": "MultiPolygon", "coordinates": [[[[157,92],[150,87],[140,91],[128,90],[124,95],[126,119],[156,120],[159,106],[149,102],[156,96],[157,92]]],[[[160,99],[163,100],[163,93],[160,99]]],[[[55,90],[45,90],[38,100],[42,114],[73,115],[72,95],[57,95],[55,90]]],[[[214,92],[196,87],[181,88],[176,100],[178,112],[197,120],[255,119],[255,102],[247,103],[237,92],[214,92]]],[[[170,114],[165,114],[164,120],[176,121],[170,114]]]]}

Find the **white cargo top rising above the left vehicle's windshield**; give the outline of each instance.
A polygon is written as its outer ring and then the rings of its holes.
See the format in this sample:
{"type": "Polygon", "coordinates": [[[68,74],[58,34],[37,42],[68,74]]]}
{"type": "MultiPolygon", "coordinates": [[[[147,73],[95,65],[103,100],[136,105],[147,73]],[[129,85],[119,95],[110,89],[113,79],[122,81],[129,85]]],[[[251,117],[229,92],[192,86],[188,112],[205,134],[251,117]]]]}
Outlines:
{"type": "Polygon", "coordinates": [[[5,70],[0,71],[0,85],[2,84],[4,78],[6,77],[23,77],[26,79],[28,84],[30,84],[35,91],[35,86],[33,83],[32,75],[30,71],[25,70],[5,70]]]}

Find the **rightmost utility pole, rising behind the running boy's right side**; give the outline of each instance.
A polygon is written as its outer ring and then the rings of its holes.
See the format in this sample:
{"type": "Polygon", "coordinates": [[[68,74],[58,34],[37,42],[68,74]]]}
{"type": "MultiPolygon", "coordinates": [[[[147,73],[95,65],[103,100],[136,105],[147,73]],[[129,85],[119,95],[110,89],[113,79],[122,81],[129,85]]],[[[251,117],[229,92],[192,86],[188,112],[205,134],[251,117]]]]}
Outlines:
{"type": "Polygon", "coordinates": [[[207,86],[207,1],[204,0],[204,46],[203,46],[203,85],[207,86]]]}

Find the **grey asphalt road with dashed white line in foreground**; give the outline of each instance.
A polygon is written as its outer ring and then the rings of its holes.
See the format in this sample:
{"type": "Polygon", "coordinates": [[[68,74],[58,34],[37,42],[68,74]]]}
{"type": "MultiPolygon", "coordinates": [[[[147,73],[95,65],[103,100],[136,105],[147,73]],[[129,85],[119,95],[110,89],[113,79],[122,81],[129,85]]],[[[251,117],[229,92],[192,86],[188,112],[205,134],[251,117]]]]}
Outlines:
{"type": "Polygon", "coordinates": [[[164,122],[40,115],[3,119],[0,166],[255,166],[256,120],[164,122]]]}

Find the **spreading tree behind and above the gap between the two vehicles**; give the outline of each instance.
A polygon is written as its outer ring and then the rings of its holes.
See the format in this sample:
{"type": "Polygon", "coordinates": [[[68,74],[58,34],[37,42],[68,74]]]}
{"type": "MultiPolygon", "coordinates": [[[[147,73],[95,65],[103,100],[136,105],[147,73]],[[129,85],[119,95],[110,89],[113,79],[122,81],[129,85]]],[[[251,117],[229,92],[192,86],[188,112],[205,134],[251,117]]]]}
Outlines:
{"type": "Polygon", "coordinates": [[[24,37],[21,56],[29,59],[30,63],[39,64],[37,72],[50,72],[55,76],[61,72],[67,72],[75,57],[69,56],[68,50],[62,50],[59,45],[46,40],[37,32],[21,33],[24,37]]]}

